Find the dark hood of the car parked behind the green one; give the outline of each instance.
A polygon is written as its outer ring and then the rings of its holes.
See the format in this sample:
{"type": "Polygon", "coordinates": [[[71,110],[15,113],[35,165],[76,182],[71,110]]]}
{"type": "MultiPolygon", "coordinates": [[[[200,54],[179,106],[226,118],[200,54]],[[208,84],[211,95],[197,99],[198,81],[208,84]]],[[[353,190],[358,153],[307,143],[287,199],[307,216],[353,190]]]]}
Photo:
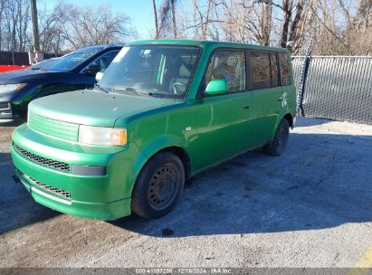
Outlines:
{"type": "Polygon", "coordinates": [[[16,84],[16,83],[27,83],[30,81],[36,81],[39,79],[45,79],[55,74],[60,74],[57,71],[43,71],[43,70],[17,70],[17,71],[6,71],[0,73],[0,85],[1,84],[16,84]]]}

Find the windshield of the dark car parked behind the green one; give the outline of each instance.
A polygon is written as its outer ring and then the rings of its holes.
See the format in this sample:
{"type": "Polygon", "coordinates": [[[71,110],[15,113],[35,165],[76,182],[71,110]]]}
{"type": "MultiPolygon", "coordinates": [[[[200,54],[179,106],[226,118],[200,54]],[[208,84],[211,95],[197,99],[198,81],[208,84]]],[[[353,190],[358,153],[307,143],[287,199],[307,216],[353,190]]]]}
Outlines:
{"type": "Polygon", "coordinates": [[[82,62],[90,58],[96,51],[92,52],[72,52],[69,53],[57,61],[53,62],[51,65],[48,65],[48,70],[56,71],[70,71],[76,66],[80,65],[82,62]]]}

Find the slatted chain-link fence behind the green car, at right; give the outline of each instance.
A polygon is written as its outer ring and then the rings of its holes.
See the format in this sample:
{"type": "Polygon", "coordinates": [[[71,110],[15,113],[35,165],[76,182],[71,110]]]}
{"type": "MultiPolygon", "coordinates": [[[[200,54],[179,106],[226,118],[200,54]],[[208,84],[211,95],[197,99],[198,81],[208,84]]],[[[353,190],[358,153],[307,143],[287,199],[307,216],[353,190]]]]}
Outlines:
{"type": "Polygon", "coordinates": [[[303,116],[372,125],[372,56],[293,56],[292,66],[303,116]]]}

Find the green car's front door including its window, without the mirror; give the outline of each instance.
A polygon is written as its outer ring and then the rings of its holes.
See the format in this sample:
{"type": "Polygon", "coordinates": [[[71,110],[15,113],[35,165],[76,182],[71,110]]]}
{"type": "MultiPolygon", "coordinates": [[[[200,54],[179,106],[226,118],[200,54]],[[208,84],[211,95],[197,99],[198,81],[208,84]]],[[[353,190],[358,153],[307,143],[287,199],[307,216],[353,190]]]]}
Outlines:
{"type": "Polygon", "coordinates": [[[204,95],[196,108],[196,145],[203,156],[196,160],[198,168],[219,163],[250,147],[253,99],[246,85],[245,51],[215,51],[205,71],[205,84],[214,79],[224,79],[228,91],[221,95],[204,95]]]}

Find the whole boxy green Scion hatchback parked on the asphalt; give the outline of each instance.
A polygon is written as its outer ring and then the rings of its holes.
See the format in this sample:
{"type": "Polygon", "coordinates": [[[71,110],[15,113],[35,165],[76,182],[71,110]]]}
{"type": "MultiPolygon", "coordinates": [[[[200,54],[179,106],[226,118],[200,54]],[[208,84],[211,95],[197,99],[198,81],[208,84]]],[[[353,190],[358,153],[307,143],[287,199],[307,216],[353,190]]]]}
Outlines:
{"type": "Polygon", "coordinates": [[[160,217],[205,169],[258,147],[280,155],[294,124],[286,49],[134,42],[97,78],[33,100],[12,137],[14,178],[62,213],[160,217]]]}

